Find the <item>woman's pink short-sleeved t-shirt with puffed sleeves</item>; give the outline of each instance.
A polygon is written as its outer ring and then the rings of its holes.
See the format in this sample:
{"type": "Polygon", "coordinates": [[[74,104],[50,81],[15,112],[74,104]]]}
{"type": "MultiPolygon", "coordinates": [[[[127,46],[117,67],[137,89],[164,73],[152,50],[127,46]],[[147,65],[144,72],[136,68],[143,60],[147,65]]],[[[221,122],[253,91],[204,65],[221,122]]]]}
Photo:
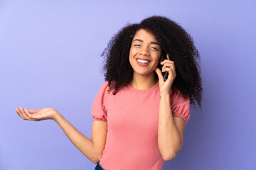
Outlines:
{"type": "MultiPolygon", "coordinates": [[[[157,142],[159,84],[138,90],[128,85],[113,95],[102,84],[92,104],[93,120],[107,121],[107,138],[100,165],[106,170],[163,169],[157,142]]],[[[170,91],[171,111],[188,123],[189,99],[170,91]]]]}

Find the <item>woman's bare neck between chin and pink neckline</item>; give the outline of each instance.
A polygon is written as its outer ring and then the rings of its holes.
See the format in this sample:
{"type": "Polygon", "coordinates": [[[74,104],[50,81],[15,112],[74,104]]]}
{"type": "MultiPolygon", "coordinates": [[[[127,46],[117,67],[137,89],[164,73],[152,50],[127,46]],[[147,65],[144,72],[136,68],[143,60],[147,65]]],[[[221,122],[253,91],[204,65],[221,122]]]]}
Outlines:
{"type": "Polygon", "coordinates": [[[146,77],[138,74],[133,74],[130,85],[138,90],[146,90],[156,85],[157,81],[158,80],[154,77],[154,73],[146,77]]]}

